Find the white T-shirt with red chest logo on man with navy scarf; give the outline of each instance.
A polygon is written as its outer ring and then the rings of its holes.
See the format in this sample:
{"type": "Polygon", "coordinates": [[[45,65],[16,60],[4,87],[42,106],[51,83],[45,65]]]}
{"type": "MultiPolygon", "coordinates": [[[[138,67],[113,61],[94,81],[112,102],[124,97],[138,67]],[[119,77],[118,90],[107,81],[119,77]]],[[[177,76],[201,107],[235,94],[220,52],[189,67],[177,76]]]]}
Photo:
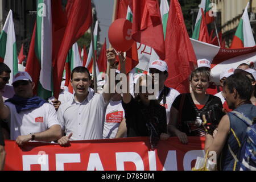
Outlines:
{"type": "Polygon", "coordinates": [[[53,125],[60,125],[56,110],[49,103],[20,113],[17,113],[15,105],[11,102],[5,102],[5,105],[10,109],[11,140],[16,140],[19,135],[39,133],[53,125]]]}

